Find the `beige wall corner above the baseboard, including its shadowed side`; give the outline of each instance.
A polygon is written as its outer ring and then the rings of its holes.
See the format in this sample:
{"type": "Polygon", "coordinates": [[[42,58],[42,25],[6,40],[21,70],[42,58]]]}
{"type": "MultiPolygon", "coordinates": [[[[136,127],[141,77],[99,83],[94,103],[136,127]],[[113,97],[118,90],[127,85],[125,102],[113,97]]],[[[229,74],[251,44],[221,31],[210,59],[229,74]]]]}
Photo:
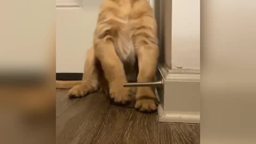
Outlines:
{"type": "Polygon", "coordinates": [[[171,69],[200,69],[200,1],[156,2],[161,63],[171,69]]]}

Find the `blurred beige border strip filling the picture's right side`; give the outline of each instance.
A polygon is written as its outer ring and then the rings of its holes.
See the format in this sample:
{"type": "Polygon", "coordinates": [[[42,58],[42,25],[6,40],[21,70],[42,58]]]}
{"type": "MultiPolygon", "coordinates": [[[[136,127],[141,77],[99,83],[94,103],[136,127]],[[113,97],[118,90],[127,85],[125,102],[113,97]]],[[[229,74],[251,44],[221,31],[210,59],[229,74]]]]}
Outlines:
{"type": "Polygon", "coordinates": [[[201,143],[256,143],[256,1],[201,3],[201,143]]]}

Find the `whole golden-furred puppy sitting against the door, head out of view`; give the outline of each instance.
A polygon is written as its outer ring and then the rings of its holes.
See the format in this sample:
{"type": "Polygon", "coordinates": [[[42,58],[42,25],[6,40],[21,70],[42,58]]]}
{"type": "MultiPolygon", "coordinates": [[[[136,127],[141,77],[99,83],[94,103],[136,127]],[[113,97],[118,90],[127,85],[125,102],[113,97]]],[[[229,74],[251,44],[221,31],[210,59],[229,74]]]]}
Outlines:
{"type": "Polygon", "coordinates": [[[105,0],[94,31],[93,47],[87,51],[83,81],[61,82],[70,97],[83,97],[102,89],[117,103],[135,108],[157,109],[153,87],[123,87],[126,82],[154,82],[158,60],[156,20],[147,0],[105,0]],[[78,84],[78,85],[77,85],[78,84]]]}

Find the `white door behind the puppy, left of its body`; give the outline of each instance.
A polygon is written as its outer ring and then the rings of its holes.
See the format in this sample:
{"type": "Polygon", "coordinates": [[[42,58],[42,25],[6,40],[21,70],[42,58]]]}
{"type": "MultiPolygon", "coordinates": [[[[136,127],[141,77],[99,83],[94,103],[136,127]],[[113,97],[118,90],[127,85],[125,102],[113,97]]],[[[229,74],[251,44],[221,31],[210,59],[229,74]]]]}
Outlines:
{"type": "Polygon", "coordinates": [[[83,73],[85,53],[93,44],[101,1],[75,0],[81,5],[57,7],[56,73],[83,73]]]}

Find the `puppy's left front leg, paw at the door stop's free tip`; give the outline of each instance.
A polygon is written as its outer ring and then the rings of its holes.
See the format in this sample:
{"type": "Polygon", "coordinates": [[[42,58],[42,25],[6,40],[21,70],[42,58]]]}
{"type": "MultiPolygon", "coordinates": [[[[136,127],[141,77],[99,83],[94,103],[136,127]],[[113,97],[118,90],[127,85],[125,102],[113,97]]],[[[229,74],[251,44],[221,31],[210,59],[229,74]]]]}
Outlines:
{"type": "Polygon", "coordinates": [[[123,87],[126,76],[122,61],[116,54],[112,41],[99,39],[95,46],[95,56],[100,61],[103,73],[108,81],[110,98],[117,103],[126,103],[131,99],[131,91],[123,87]]]}

